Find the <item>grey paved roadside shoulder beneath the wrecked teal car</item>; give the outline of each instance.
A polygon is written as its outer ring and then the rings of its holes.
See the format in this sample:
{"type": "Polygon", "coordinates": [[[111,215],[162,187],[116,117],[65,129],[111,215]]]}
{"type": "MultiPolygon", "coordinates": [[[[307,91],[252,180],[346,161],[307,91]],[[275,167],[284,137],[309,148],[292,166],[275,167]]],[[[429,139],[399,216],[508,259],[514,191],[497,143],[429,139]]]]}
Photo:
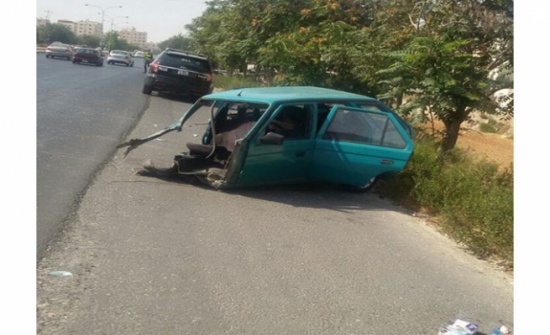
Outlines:
{"type": "MultiPolygon", "coordinates": [[[[149,99],[130,138],[188,107],[149,99]]],[[[199,128],[104,166],[37,269],[38,334],[435,335],[455,319],[513,330],[509,274],[376,194],[221,192],[134,173],[171,164],[199,128]]]]}

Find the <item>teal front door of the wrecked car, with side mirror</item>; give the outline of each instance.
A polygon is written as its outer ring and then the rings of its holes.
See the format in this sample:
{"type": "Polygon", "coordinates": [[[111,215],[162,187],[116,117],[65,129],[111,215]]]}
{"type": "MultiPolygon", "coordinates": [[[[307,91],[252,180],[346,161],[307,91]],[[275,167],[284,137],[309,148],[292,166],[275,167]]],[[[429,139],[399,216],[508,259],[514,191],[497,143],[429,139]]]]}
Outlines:
{"type": "Polygon", "coordinates": [[[315,146],[313,111],[313,104],[279,106],[251,139],[238,183],[251,185],[305,180],[315,146]],[[269,132],[282,136],[282,142],[263,142],[261,137],[269,132]]]}

